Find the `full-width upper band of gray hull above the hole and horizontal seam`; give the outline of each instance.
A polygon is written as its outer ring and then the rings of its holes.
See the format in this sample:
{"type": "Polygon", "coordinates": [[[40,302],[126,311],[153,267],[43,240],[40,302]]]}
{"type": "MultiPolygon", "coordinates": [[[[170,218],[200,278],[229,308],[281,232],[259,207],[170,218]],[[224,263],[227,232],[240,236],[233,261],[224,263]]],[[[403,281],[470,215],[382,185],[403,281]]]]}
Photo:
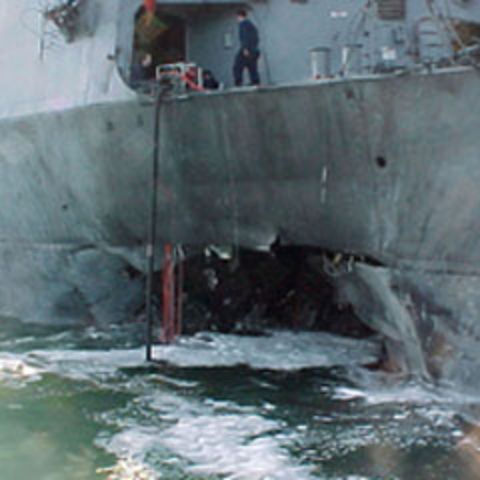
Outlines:
{"type": "MultiPolygon", "coordinates": [[[[478,80],[466,71],[168,101],[157,242],[280,239],[479,273],[478,80]]],[[[1,243],[144,245],[153,110],[123,102],[1,122],[1,243]]]]}

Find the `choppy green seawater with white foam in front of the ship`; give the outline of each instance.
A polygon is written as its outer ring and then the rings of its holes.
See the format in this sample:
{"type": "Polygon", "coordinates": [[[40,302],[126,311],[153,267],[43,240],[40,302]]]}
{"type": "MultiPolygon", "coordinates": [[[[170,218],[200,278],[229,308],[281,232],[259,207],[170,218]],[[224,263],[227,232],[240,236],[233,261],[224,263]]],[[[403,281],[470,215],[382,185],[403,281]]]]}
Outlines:
{"type": "Polygon", "coordinates": [[[480,478],[458,397],[348,358],[202,366],[198,343],[177,352],[188,366],[146,366],[141,333],[4,322],[0,480],[480,478]]]}

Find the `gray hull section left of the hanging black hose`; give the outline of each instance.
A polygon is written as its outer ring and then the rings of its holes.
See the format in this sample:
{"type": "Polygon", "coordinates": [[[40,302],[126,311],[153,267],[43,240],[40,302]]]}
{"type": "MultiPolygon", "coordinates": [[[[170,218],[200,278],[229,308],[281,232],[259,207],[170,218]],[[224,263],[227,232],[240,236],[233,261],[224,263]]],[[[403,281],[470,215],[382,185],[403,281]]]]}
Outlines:
{"type": "Polygon", "coordinates": [[[131,320],[143,303],[151,107],[100,105],[0,124],[1,314],[131,320]]]}

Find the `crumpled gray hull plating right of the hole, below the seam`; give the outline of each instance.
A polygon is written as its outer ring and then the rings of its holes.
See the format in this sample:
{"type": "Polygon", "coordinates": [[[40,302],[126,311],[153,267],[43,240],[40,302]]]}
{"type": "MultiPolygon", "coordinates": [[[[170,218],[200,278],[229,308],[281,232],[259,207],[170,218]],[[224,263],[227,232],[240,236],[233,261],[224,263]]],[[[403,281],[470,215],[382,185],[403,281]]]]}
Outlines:
{"type": "Polygon", "coordinates": [[[478,393],[480,278],[357,265],[343,301],[385,336],[385,367],[478,393]]]}

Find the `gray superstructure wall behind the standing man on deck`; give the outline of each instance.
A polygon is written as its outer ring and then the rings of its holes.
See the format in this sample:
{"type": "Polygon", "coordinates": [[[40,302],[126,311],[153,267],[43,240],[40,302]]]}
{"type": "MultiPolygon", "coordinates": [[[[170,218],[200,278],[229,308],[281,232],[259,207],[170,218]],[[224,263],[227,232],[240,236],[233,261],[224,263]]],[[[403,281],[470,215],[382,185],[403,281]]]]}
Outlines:
{"type": "MultiPolygon", "coordinates": [[[[457,37],[450,18],[480,21],[477,0],[406,0],[405,16],[387,20],[382,19],[377,2],[367,0],[158,2],[160,14],[185,21],[187,60],[212,70],[226,87],[233,83],[239,48],[236,11],[241,3],[250,9],[259,30],[262,83],[269,85],[311,78],[311,50],[316,48],[329,49],[335,76],[436,62],[453,53],[452,41],[457,37]]],[[[141,4],[141,0],[125,0],[118,14],[117,64],[126,79],[134,19],[141,4]]]]}

